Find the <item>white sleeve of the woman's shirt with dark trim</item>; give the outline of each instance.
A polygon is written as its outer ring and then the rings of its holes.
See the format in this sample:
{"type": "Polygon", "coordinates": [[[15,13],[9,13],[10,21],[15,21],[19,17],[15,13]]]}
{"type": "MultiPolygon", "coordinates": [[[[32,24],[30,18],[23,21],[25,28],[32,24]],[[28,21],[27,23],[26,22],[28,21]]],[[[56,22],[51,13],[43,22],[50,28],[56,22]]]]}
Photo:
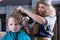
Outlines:
{"type": "Polygon", "coordinates": [[[48,26],[50,31],[52,31],[56,22],[56,16],[51,15],[51,16],[45,17],[45,20],[46,20],[45,26],[48,26]]]}

